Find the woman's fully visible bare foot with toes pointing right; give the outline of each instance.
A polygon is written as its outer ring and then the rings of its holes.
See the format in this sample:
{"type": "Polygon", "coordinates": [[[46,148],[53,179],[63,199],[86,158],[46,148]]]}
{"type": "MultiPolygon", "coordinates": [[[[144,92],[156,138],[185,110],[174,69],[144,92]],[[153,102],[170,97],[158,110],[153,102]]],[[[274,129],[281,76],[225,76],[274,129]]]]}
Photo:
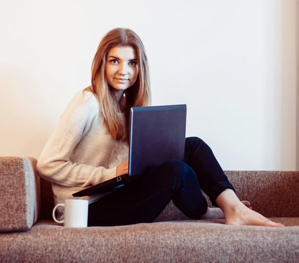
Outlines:
{"type": "MultiPolygon", "coordinates": [[[[242,202],[243,203],[243,202],[242,202]]],[[[243,203],[244,204],[244,203],[243,203]]],[[[268,226],[268,227],[284,227],[285,225],[275,223],[258,212],[248,209],[242,204],[238,204],[225,214],[226,225],[248,225],[248,226],[268,226]]]]}

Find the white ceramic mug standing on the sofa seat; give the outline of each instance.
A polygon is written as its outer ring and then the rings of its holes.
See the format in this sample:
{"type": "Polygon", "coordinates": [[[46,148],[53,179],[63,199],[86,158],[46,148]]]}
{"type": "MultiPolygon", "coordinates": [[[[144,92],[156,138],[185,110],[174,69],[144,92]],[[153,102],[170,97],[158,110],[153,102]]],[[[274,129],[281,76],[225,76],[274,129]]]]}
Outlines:
{"type": "Polygon", "coordinates": [[[67,199],[64,204],[58,204],[52,212],[56,223],[64,224],[65,227],[87,227],[88,201],[79,199],[67,199]],[[58,221],[55,218],[55,211],[58,206],[64,207],[64,219],[58,221]]]}

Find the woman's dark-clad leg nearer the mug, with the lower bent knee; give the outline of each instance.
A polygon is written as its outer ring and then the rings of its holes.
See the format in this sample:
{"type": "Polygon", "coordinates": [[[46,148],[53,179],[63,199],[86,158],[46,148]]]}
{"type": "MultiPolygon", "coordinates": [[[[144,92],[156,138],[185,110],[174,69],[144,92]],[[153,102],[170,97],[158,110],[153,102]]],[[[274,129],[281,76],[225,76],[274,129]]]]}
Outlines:
{"type": "Polygon", "coordinates": [[[162,163],[89,205],[88,226],[116,226],[152,222],[172,199],[187,217],[199,219],[207,211],[196,174],[186,163],[162,163]]]}

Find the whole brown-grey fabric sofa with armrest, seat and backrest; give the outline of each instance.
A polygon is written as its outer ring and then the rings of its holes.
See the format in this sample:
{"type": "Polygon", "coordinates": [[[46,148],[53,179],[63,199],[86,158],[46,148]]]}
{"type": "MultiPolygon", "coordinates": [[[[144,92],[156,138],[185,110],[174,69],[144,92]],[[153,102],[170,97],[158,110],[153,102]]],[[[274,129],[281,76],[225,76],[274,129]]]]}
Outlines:
{"type": "Polygon", "coordinates": [[[76,229],[52,220],[36,163],[0,157],[0,262],[299,262],[297,171],[225,171],[240,200],[286,227],[189,220],[170,202],[154,223],[76,229]]]}

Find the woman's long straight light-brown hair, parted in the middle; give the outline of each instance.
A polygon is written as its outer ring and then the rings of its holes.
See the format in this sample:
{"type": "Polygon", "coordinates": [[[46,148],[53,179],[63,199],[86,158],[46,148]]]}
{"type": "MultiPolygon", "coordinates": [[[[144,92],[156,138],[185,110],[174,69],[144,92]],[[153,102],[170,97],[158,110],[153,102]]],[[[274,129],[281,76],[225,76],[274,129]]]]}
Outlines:
{"type": "Polygon", "coordinates": [[[130,109],[151,105],[149,83],[149,65],[146,51],[140,37],[131,29],[115,28],[110,30],[101,40],[91,67],[91,87],[83,90],[91,91],[97,97],[104,123],[113,139],[129,142],[130,109]],[[136,82],[125,91],[125,119],[118,116],[119,104],[111,92],[105,76],[106,56],[115,46],[131,46],[137,54],[139,73],[136,82]]]}

